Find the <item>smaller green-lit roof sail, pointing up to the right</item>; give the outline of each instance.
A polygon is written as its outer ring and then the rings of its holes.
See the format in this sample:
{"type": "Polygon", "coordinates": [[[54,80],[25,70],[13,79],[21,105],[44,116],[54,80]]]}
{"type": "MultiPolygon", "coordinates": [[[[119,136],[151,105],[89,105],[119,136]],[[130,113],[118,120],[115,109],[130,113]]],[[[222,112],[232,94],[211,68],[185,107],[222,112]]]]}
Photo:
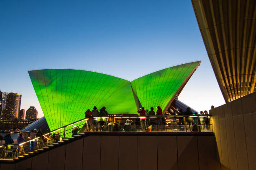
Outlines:
{"type": "Polygon", "coordinates": [[[189,62],[152,72],[133,80],[131,84],[141,105],[145,107],[145,110],[157,106],[164,110],[199,64],[200,61],[189,62]]]}

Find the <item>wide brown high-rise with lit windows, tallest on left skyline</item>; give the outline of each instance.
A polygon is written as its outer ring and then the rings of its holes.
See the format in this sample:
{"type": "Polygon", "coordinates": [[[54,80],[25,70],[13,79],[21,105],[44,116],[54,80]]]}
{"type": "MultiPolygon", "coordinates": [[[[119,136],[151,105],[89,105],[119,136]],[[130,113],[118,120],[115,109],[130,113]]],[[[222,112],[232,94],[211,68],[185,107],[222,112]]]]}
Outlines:
{"type": "Polygon", "coordinates": [[[18,118],[20,112],[21,95],[10,92],[6,98],[6,105],[4,110],[5,119],[18,118]]]}

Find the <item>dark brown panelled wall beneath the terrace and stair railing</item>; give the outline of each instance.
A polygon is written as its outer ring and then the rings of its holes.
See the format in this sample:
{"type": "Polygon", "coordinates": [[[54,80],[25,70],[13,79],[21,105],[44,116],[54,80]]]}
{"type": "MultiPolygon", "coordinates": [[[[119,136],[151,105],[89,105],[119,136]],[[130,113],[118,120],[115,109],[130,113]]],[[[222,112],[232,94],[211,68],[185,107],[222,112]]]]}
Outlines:
{"type": "Polygon", "coordinates": [[[90,135],[0,170],[220,170],[215,137],[90,135]]]}

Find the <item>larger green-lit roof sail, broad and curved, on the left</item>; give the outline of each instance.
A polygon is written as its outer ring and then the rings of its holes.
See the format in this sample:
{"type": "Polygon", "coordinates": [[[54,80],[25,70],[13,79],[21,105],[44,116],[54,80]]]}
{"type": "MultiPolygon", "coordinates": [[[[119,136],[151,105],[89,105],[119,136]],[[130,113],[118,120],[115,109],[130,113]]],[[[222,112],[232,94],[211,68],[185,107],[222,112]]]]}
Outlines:
{"type": "Polygon", "coordinates": [[[84,118],[87,109],[111,113],[137,111],[131,83],[102,73],[46,69],[28,72],[51,130],[84,118]]]}

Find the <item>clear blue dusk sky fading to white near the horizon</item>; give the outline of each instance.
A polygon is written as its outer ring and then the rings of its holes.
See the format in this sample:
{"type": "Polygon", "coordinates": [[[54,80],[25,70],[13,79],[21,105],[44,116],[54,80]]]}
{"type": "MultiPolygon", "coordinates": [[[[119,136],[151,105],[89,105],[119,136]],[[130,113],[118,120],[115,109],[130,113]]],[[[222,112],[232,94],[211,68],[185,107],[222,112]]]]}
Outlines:
{"type": "Polygon", "coordinates": [[[189,0],[1,0],[0,90],[43,112],[28,70],[73,68],[134,80],[202,60],[179,100],[197,111],[225,103],[189,0]]]}

